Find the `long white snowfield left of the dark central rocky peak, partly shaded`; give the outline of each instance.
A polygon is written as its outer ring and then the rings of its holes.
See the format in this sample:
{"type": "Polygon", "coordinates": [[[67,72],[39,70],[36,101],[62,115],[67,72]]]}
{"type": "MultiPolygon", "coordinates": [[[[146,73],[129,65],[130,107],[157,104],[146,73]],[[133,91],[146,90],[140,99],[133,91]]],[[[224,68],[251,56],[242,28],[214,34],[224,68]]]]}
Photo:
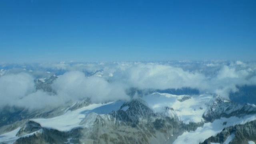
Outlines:
{"type": "Polygon", "coordinates": [[[80,125],[80,122],[88,114],[108,114],[112,112],[112,110],[118,110],[122,104],[122,101],[109,102],[106,104],[91,104],[78,110],[67,111],[65,114],[61,116],[48,119],[32,119],[32,121],[39,123],[44,128],[51,128],[59,131],[69,131],[72,130],[73,128],[82,127],[80,125]]]}

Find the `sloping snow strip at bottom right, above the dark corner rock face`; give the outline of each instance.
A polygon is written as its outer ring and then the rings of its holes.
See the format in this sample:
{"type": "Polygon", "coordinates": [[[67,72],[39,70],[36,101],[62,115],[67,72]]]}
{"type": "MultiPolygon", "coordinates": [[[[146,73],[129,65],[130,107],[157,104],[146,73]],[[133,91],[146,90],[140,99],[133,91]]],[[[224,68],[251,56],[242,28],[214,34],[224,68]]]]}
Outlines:
{"type": "MultiPolygon", "coordinates": [[[[218,120],[214,120],[212,123],[205,123],[203,127],[199,127],[195,131],[184,132],[181,136],[178,136],[173,144],[198,144],[204,142],[204,140],[211,136],[216,136],[224,128],[237,124],[245,124],[253,120],[256,120],[256,115],[248,115],[244,116],[244,118],[234,116],[230,118],[220,118],[218,120]],[[227,122],[227,124],[223,125],[223,122],[227,122]]],[[[231,135],[227,140],[231,141],[232,138],[233,136],[231,135]]]]}

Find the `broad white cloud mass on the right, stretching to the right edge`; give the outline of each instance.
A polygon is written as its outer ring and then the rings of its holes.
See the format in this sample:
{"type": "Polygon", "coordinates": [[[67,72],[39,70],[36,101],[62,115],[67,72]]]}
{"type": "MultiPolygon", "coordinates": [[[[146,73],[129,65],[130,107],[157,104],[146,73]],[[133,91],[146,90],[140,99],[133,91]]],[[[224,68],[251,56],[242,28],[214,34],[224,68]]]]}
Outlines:
{"type": "Polygon", "coordinates": [[[207,70],[186,71],[170,65],[134,63],[126,69],[122,67],[122,70],[116,70],[111,80],[120,80],[140,89],[197,88],[201,93],[216,93],[225,98],[228,98],[229,92],[238,90],[237,85],[256,84],[255,77],[252,77],[255,75],[253,67],[218,66],[220,69],[212,69],[216,72],[209,77],[202,73],[207,70]]]}

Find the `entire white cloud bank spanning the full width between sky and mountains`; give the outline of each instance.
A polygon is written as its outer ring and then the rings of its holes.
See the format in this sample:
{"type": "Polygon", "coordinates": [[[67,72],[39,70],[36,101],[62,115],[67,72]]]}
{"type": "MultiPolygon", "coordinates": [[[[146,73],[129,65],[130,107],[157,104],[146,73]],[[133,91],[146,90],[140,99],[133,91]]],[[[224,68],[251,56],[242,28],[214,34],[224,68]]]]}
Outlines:
{"type": "Polygon", "coordinates": [[[256,85],[255,62],[65,63],[2,66],[0,106],[40,109],[89,98],[93,103],[129,100],[129,88],[140,90],[196,88],[228,98],[236,86],[256,85]],[[36,90],[34,80],[58,75],[56,94],[36,90]]]}

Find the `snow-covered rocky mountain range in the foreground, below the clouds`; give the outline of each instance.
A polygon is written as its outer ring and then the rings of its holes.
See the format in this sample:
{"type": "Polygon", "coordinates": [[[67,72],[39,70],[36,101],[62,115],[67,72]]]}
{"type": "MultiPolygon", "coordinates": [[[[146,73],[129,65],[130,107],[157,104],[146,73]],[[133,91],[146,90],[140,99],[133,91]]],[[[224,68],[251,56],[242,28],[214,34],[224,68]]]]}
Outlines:
{"type": "Polygon", "coordinates": [[[152,93],[129,102],[76,102],[52,118],[1,127],[2,144],[246,143],[256,140],[256,106],[215,94],[152,93]]]}

